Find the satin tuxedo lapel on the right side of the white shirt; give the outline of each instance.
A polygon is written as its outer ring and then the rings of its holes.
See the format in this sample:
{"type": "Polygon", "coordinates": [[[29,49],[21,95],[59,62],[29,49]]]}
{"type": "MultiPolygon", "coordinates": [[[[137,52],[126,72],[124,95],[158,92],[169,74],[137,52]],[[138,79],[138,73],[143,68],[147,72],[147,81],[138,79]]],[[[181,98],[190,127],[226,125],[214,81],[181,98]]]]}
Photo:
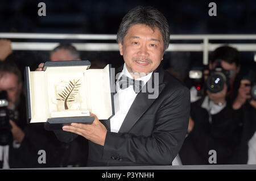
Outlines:
{"type": "MultiPolygon", "coordinates": [[[[165,82],[163,82],[163,74],[164,74],[164,71],[162,70],[161,67],[159,67],[158,69],[156,69],[156,71],[152,73],[152,76],[148,81],[148,82],[152,81],[152,83],[154,84],[154,87],[158,86],[158,89],[155,89],[159,91],[158,95],[163,91],[164,87],[166,86],[165,82]],[[156,83],[154,82],[154,73],[159,73],[158,85],[156,85],[156,83]]],[[[145,86],[147,86],[147,84],[145,86]]],[[[119,129],[119,133],[129,132],[130,129],[133,127],[133,125],[143,115],[143,113],[145,113],[148,110],[148,108],[151,106],[151,104],[154,103],[156,98],[148,99],[148,95],[150,95],[150,92],[148,91],[146,92],[141,91],[138,93],[133,104],[131,104],[130,110],[127,112],[125,120],[123,120],[121,128],[119,129]]]]}

